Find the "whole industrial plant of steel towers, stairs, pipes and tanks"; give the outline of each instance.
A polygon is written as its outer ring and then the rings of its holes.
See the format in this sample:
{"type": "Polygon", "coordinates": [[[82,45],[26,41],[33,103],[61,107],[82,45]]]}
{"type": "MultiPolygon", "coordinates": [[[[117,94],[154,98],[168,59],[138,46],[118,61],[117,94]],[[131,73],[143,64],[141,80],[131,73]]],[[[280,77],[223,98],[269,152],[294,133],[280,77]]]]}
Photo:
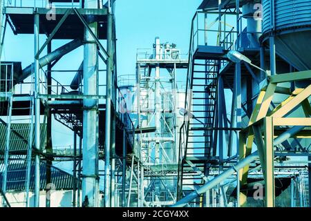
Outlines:
{"type": "Polygon", "coordinates": [[[198,0],[133,73],[117,5],[0,0],[0,207],[310,207],[311,0],[198,0]]]}

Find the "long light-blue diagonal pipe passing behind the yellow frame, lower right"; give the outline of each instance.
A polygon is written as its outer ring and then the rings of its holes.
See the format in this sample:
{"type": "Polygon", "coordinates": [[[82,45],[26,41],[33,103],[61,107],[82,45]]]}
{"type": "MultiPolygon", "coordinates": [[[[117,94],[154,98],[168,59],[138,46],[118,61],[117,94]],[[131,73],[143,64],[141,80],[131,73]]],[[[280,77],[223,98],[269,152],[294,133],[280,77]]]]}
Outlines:
{"type": "MultiPolygon", "coordinates": [[[[295,135],[296,133],[301,131],[304,127],[305,126],[294,126],[293,128],[290,128],[290,130],[285,131],[284,133],[279,135],[279,137],[276,137],[276,139],[274,139],[274,142],[273,142],[274,146],[281,144],[285,140],[288,140],[288,135],[290,135],[290,137],[292,137],[293,135],[295,135]]],[[[216,186],[220,182],[223,182],[223,180],[227,179],[227,177],[234,174],[236,171],[243,169],[244,166],[247,166],[248,164],[250,164],[254,160],[258,160],[258,158],[259,158],[258,151],[255,151],[251,155],[248,155],[243,160],[238,162],[238,164],[230,167],[229,169],[227,169],[227,171],[220,173],[220,175],[214,177],[213,180],[210,180],[209,182],[207,182],[206,184],[201,186],[199,189],[197,189],[197,190],[193,191],[192,193],[190,193],[189,195],[185,196],[185,198],[182,198],[181,200],[176,202],[176,204],[173,204],[171,207],[186,206],[189,202],[196,199],[201,194],[206,193],[206,191],[208,191],[209,189],[212,189],[214,186],[216,186]]]]}

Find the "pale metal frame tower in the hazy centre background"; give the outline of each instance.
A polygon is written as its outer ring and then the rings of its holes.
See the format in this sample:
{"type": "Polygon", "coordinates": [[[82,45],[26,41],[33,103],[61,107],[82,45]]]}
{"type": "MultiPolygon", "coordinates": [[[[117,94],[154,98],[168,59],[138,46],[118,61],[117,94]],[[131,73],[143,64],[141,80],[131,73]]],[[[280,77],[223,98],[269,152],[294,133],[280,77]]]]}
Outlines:
{"type": "MultiPolygon", "coordinates": [[[[145,199],[151,206],[176,202],[178,164],[177,75],[187,68],[174,44],[160,44],[156,37],[152,50],[138,50],[136,63],[136,113],[140,164],[144,167],[145,199]],[[149,129],[149,132],[148,132],[149,129]],[[152,132],[151,132],[152,131],[152,132]]],[[[142,185],[143,185],[142,184],[142,185]]]]}

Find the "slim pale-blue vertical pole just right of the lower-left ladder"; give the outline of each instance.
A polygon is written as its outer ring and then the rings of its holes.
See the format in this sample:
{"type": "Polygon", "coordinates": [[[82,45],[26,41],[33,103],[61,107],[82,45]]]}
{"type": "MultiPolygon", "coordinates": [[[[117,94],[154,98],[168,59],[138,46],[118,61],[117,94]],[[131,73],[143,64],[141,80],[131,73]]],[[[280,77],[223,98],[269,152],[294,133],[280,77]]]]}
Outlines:
{"type": "MultiPolygon", "coordinates": [[[[34,37],[35,37],[35,55],[39,51],[39,14],[35,13],[35,27],[34,27],[34,37]]],[[[40,148],[40,99],[37,97],[39,95],[39,59],[35,58],[35,148],[37,151],[41,151],[40,148]]],[[[39,191],[40,191],[40,158],[39,154],[35,155],[35,207],[39,207],[39,191]]]]}

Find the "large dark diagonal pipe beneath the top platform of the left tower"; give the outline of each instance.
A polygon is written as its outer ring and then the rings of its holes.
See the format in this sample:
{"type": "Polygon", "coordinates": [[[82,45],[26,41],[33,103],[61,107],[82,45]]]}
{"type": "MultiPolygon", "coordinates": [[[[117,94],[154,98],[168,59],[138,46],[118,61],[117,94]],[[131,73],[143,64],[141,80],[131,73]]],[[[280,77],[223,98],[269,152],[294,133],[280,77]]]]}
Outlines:
{"type": "MultiPolygon", "coordinates": [[[[82,46],[82,44],[83,43],[80,39],[75,39],[73,41],[68,42],[64,46],[57,48],[53,52],[50,52],[48,55],[41,57],[41,59],[39,59],[39,67],[43,68],[44,66],[50,64],[51,62],[53,62],[57,59],[60,59],[61,57],[68,54],[72,50],[75,50],[79,46],[82,46]]],[[[20,83],[21,81],[23,81],[24,79],[29,77],[34,70],[34,66],[35,66],[35,64],[32,63],[29,66],[27,66],[26,68],[24,68],[21,75],[18,76],[16,79],[17,83],[20,83]]]]}

